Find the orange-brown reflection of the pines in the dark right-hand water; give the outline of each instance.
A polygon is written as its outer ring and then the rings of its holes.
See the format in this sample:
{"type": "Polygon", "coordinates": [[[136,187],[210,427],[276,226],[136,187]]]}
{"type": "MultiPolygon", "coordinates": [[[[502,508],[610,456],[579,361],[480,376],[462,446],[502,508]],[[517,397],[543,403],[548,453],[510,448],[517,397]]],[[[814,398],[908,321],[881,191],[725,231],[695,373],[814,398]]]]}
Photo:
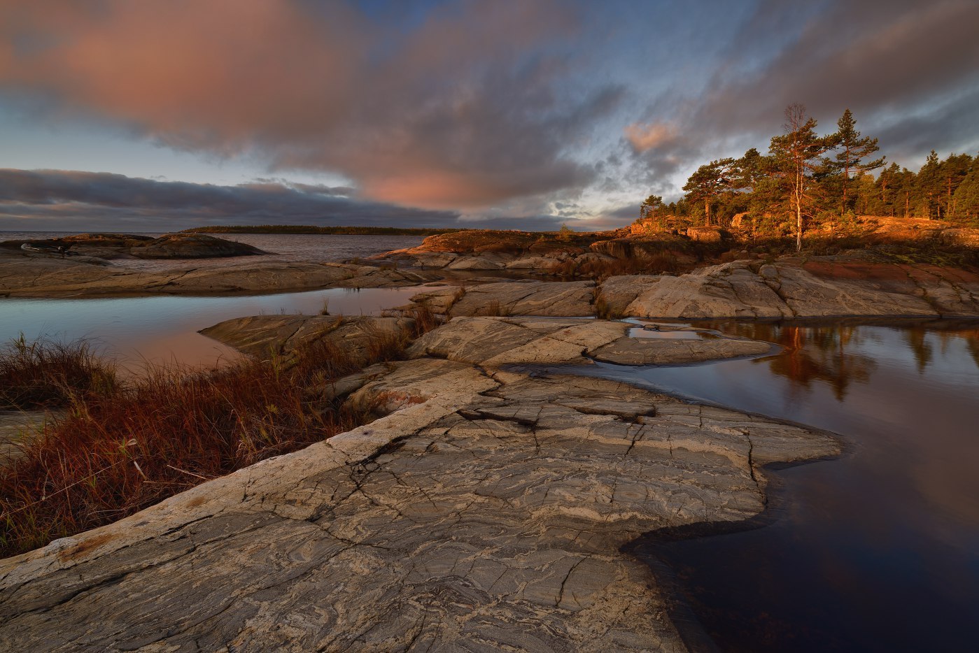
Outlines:
{"type": "MultiPolygon", "coordinates": [[[[768,365],[779,376],[791,381],[793,389],[809,389],[822,381],[833,389],[837,401],[846,398],[851,384],[865,383],[877,365],[873,358],[857,353],[867,331],[845,321],[821,324],[800,322],[716,323],[711,325],[724,333],[755,340],[774,342],[781,353],[755,361],[768,365]]],[[[976,321],[942,321],[903,324],[901,332],[920,373],[935,356],[936,344],[943,348],[949,342],[964,339],[976,366],[979,366],[979,323],[976,321]],[[971,328],[969,328],[971,326],[971,328]]]]}

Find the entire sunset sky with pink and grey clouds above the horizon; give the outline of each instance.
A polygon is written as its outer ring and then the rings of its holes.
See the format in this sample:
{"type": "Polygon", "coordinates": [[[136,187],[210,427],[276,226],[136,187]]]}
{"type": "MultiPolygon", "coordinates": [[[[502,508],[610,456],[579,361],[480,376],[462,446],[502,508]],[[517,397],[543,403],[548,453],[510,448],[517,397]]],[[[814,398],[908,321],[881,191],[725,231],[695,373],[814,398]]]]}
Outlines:
{"type": "Polygon", "coordinates": [[[0,230],[610,229],[783,110],[979,152],[979,0],[0,0],[0,230]]]}

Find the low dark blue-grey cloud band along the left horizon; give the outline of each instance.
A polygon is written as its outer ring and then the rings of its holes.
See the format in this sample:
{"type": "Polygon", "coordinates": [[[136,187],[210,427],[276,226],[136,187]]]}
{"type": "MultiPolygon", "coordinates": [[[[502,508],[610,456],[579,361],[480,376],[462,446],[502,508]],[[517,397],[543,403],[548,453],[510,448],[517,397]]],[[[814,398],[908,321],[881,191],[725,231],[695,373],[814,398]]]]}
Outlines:
{"type": "Polygon", "coordinates": [[[0,168],[0,229],[175,231],[206,225],[465,227],[550,231],[550,215],[463,216],[346,196],[346,188],[214,186],[105,172],[0,168]]]}

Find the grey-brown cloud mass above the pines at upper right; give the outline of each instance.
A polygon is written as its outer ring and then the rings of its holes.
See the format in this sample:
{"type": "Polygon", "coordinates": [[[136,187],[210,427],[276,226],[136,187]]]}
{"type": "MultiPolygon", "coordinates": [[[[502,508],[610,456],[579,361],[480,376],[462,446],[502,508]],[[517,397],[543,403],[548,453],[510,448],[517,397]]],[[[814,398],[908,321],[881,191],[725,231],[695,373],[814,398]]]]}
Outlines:
{"type": "Polygon", "coordinates": [[[795,102],[824,133],[853,109],[865,135],[906,160],[975,144],[976,24],[973,0],[758,2],[732,25],[706,83],[659,97],[627,127],[632,166],[648,173],[650,188],[672,196],[707,160],[750,147],[765,152],[795,102]]]}

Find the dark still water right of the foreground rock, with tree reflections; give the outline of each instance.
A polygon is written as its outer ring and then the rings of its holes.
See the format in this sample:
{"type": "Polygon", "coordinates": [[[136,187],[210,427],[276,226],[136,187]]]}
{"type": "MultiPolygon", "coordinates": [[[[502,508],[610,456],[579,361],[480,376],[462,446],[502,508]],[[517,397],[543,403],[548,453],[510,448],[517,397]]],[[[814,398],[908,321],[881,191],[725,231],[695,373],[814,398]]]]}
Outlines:
{"type": "Polygon", "coordinates": [[[638,545],[671,570],[691,642],[711,648],[699,626],[727,651],[976,650],[979,323],[710,326],[785,353],[588,373],[831,430],[847,452],[769,471],[759,528],[638,545]]]}

